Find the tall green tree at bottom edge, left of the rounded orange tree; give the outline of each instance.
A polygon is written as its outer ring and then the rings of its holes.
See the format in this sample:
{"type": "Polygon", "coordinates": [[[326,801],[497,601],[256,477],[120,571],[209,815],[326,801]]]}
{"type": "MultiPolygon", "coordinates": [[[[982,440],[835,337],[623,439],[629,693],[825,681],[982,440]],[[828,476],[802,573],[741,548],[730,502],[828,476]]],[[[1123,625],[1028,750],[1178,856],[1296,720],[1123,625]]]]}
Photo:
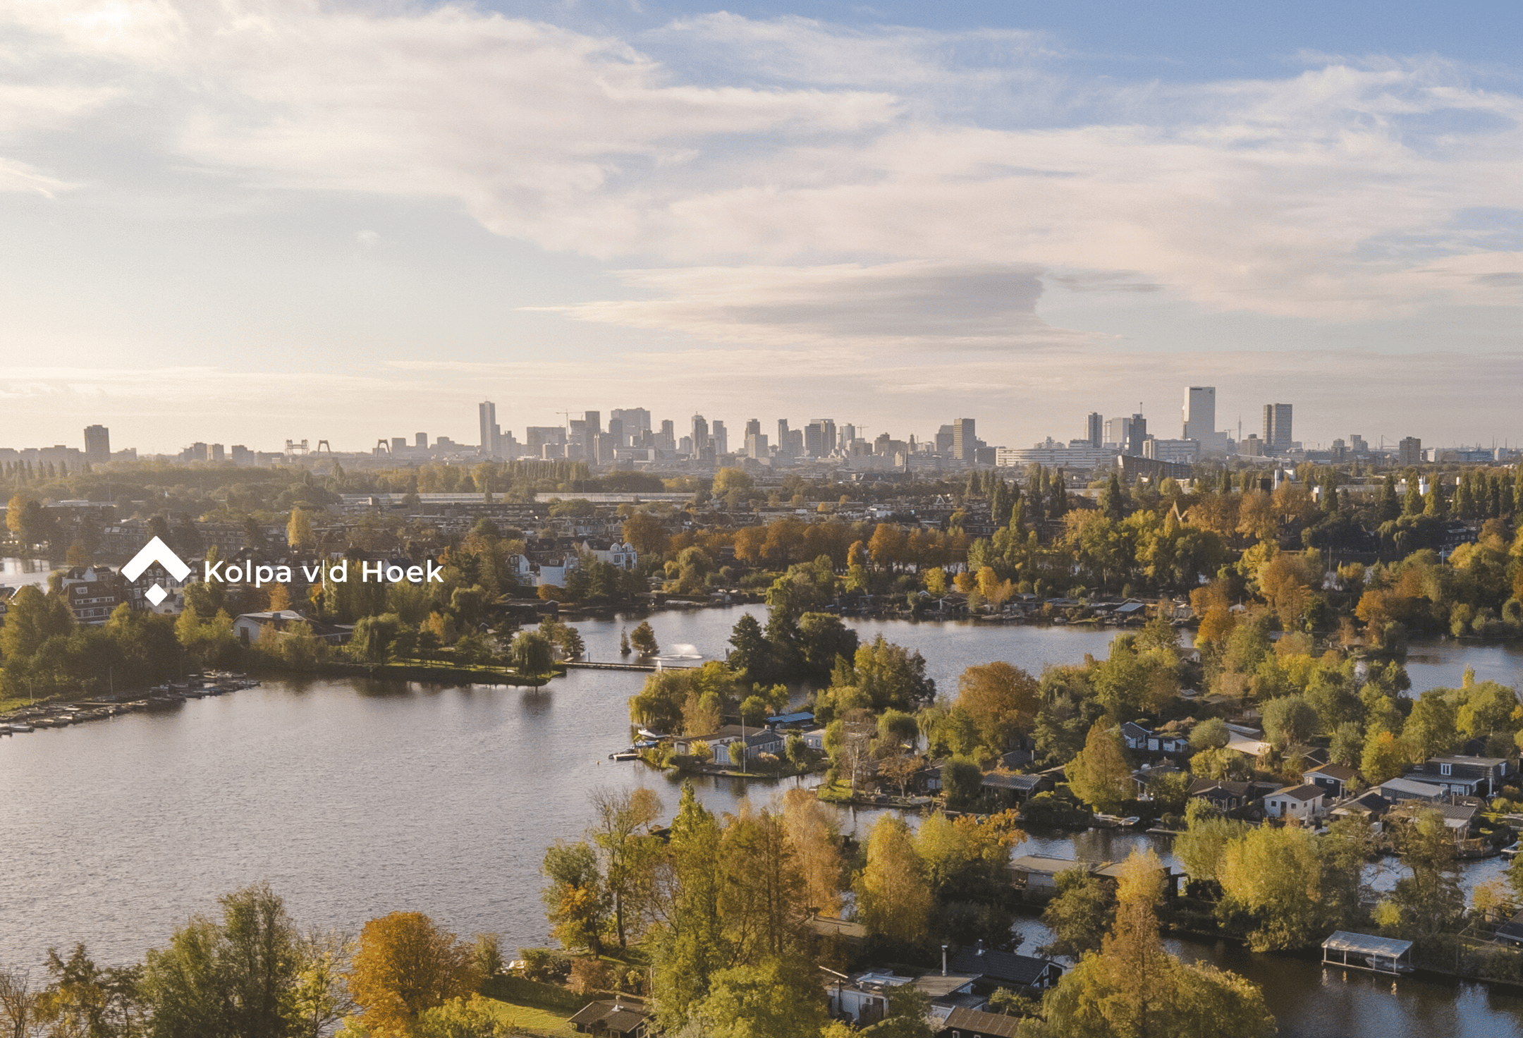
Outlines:
{"type": "Polygon", "coordinates": [[[268,884],[222,895],[222,919],[195,916],[149,951],[143,992],[152,1038],[283,1036],[294,1026],[302,957],[295,925],[268,884]]]}

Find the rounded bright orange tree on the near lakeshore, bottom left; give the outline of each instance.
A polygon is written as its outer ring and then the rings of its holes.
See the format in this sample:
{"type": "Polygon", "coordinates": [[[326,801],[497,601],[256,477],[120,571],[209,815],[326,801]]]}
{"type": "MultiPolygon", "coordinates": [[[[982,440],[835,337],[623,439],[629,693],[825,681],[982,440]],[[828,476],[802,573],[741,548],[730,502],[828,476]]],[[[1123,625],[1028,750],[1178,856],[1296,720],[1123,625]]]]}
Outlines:
{"type": "Polygon", "coordinates": [[[471,947],[420,911],[393,911],[359,931],[349,988],[372,1035],[407,1035],[419,1017],[480,983],[471,947]]]}

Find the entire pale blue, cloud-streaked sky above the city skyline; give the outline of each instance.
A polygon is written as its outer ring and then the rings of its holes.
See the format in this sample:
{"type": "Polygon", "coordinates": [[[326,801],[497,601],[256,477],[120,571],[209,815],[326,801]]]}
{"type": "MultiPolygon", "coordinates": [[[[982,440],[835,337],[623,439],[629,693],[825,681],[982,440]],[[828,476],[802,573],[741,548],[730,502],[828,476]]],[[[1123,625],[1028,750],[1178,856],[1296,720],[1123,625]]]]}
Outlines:
{"type": "Polygon", "coordinates": [[[1523,439],[1515,5],[0,5],[0,447],[1523,439]]]}

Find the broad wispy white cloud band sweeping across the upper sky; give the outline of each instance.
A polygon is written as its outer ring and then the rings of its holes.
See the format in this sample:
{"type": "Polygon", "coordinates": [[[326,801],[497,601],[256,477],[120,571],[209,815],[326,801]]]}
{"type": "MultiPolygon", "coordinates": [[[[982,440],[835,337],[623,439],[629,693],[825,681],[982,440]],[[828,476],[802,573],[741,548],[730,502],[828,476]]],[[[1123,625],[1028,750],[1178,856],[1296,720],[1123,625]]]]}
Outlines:
{"type": "Polygon", "coordinates": [[[564,311],[583,322],[748,343],[892,335],[888,314],[911,340],[1052,334],[966,273],[996,265],[1320,322],[1518,302],[1511,245],[1456,215],[1523,209],[1523,98],[1435,59],[1164,85],[1081,76],[1031,34],[733,14],[637,40],[457,5],[3,17],[26,88],[111,84],[81,111],[139,113],[166,165],[228,191],[449,198],[496,233],[638,267],[623,277],[647,297],[564,311]],[[873,294],[896,277],[924,314],[873,294]]]}

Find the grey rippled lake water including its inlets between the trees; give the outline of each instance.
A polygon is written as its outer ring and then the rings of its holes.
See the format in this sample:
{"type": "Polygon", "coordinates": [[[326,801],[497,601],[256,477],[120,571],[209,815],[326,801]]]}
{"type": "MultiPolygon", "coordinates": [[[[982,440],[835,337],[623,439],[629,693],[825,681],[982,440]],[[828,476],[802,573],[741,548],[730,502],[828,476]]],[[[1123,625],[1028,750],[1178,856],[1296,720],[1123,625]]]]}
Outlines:
{"type": "MultiPolygon", "coordinates": [[[[722,655],[743,611],[661,613],[663,649],[722,655]]],[[[592,660],[618,658],[638,620],[580,622],[592,660]]],[[[955,692],[970,663],[1031,671],[1104,654],[1109,631],[970,623],[853,622],[918,648],[938,689],[955,692]]],[[[1480,678],[1523,683],[1515,649],[1438,643],[1413,651],[1413,692],[1480,678]]],[[[588,791],[646,785],[667,809],[678,787],[641,764],[614,764],[627,744],[626,700],[643,675],[573,671],[530,692],[388,681],[268,681],[58,730],[0,738],[0,963],[40,966],[46,948],[84,940],[104,962],[139,959],[216,895],[268,879],[303,924],[358,928],[413,908],[457,933],[496,931],[509,947],[542,943],[539,861],[588,823],[588,791]]],[[[711,808],[781,783],[704,780],[711,808]]],[[[841,812],[865,832],[876,812],[841,812]]],[[[1084,832],[1033,837],[1023,854],[1119,860],[1147,841],[1084,832]]],[[[1499,863],[1471,866],[1467,886],[1499,863]]],[[[1381,879],[1394,881],[1394,875],[1381,879]]],[[[1040,924],[1023,919],[1030,948],[1040,924]]],[[[1523,1035],[1523,998],[1479,985],[1389,980],[1323,971],[1288,957],[1177,943],[1266,988],[1292,1038],[1523,1035]]]]}

